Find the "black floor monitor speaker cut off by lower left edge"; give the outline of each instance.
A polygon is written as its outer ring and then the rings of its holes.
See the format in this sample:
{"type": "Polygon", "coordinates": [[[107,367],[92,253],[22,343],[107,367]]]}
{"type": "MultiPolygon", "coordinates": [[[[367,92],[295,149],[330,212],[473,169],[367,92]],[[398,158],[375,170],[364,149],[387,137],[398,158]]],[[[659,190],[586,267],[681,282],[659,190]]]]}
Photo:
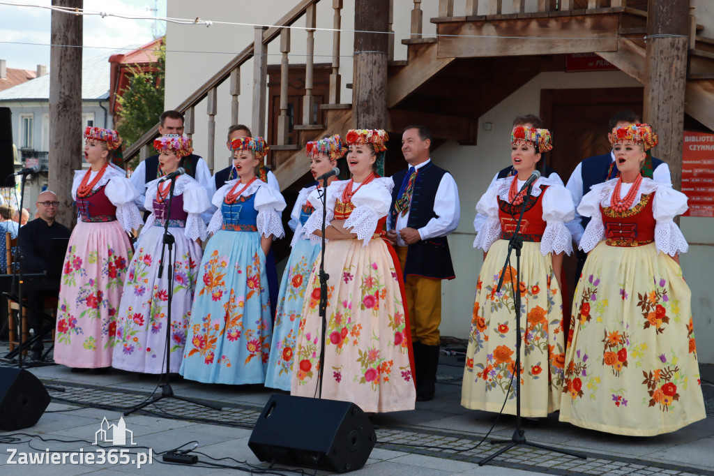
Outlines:
{"type": "Polygon", "coordinates": [[[34,426],[49,400],[42,382],[27,370],[0,368],[0,430],[34,426]]]}

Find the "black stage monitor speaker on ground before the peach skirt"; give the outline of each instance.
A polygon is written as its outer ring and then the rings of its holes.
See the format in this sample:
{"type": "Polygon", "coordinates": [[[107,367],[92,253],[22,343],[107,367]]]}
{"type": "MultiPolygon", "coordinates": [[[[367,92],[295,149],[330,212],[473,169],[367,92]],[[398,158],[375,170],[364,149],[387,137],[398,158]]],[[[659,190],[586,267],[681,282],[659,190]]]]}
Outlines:
{"type": "Polygon", "coordinates": [[[369,418],[352,402],[273,394],[248,447],[261,461],[348,472],[364,466],[376,441],[369,418]]]}

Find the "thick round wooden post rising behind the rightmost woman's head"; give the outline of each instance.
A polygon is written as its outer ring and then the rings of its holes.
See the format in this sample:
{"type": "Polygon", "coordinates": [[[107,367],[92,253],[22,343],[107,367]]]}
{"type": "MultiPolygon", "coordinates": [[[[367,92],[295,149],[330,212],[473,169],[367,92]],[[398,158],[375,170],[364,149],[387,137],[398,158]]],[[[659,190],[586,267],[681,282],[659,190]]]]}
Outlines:
{"type": "Polygon", "coordinates": [[[648,3],[643,119],[660,137],[652,154],[669,164],[675,189],[682,186],[688,7],[689,0],[648,3]]]}

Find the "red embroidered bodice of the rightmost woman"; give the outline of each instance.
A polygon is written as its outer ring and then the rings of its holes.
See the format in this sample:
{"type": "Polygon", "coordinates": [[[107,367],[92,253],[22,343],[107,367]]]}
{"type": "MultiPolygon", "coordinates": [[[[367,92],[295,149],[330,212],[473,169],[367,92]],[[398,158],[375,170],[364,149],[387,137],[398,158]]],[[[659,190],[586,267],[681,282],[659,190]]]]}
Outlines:
{"type": "Polygon", "coordinates": [[[641,247],[654,242],[654,196],[655,192],[643,194],[640,203],[622,213],[600,205],[605,225],[605,243],[611,247],[641,247]]]}

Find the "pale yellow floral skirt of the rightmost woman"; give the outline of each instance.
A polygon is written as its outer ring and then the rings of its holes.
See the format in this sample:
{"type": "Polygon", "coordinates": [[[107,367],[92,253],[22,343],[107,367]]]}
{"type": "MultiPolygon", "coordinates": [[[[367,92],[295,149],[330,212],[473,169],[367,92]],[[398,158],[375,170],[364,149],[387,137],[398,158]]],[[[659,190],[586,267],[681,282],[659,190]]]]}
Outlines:
{"type": "Polygon", "coordinates": [[[560,420],[653,436],[705,418],[690,300],[654,243],[598,244],[573,297],[560,420]]]}

